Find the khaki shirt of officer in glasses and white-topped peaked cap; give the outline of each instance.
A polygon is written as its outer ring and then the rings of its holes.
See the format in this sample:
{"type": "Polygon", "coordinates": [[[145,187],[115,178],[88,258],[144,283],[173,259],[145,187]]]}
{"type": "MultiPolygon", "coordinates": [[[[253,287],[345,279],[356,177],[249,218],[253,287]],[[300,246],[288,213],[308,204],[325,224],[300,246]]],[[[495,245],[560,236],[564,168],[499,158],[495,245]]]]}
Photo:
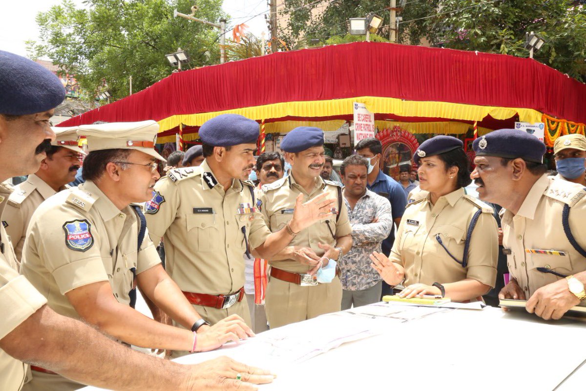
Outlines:
{"type": "Polygon", "coordinates": [[[138,216],[118,209],[95,183],[59,192],[30,220],[21,273],[61,315],[79,318],[65,294],[109,281],[118,302],[130,304],[132,268],[140,274],[161,263],[148,232],[137,252],[138,216]]]}

